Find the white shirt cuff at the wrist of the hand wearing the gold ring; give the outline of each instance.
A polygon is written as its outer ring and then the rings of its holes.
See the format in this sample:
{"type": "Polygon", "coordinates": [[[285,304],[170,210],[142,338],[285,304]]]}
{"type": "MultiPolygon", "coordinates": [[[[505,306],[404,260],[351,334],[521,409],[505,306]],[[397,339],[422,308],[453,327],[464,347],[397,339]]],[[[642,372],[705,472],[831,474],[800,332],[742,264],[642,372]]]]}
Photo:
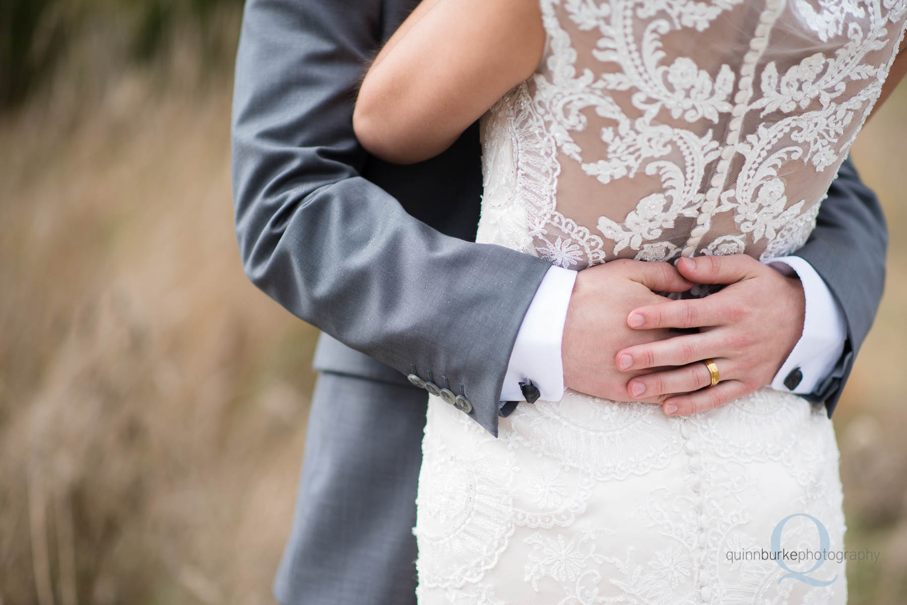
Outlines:
{"type": "Polygon", "coordinates": [[[766,261],[782,274],[797,274],[803,283],[805,318],[803,335],[775,374],[772,389],[806,395],[832,373],[844,352],[847,323],[844,309],[812,264],[799,256],[780,256],[766,261]],[[797,372],[802,378],[797,381],[797,372]],[[789,378],[789,379],[788,379],[789,378]],[[787,381],[787,385],[785,385],[787,381]],[[796,384],[795,384],[796,383],[796,384]],[[789,386],[795,385],[793,389],[789,386]]]}

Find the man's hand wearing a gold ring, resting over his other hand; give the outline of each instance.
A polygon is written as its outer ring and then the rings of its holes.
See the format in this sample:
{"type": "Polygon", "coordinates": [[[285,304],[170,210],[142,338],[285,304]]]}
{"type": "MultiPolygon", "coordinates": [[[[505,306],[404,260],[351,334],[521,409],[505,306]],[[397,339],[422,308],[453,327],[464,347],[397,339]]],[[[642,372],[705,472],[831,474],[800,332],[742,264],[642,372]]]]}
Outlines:
{"type": "Polygon", "coordinates": [[[696,333],[618,351],[621,370],[677,366],[630,379],[631,399],[660,401],[665,413],[717,408],[772,382],[803,332],[805,296],[796,277],[746,254],[681,258],[678,271],[694,283],[726,283],[701,299],[639,307],[627,322],[635,330],[698,328],[696,333]],[[715,360],[721,381],[709,387],[702,360],[715,360]]]}

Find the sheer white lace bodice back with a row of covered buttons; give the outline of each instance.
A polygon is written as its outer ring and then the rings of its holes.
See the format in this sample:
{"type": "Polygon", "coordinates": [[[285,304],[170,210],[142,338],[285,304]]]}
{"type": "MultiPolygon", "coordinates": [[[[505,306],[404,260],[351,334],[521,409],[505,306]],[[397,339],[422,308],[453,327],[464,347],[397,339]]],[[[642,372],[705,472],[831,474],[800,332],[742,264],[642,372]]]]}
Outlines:
{"type": "Polygon", "coordinates": [[[904,0],[541,0],[541,64],[483,117],[479,240],[581,269],[805,243],[904,0]]]}

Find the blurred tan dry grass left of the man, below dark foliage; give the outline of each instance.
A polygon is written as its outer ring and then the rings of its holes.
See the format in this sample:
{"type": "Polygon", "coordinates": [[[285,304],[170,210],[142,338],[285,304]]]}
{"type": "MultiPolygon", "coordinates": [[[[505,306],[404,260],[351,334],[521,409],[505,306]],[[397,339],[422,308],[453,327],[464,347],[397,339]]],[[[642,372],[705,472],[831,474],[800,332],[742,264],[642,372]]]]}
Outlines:
{"type": "Polygon", "coordinates": [[[0,123],[5,604],[270,601],[316,331],[242,274],[194,48],[0,123]]]}

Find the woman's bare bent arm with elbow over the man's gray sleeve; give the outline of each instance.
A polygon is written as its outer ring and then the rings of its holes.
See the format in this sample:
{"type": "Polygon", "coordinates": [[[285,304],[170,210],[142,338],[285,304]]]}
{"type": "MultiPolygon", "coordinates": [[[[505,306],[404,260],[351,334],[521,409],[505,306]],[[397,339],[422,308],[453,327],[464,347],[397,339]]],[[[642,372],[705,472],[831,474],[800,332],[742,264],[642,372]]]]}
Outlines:
{"type": "Polygon", "coordinates": [[[537,0],[424,0],[362,82],[356,137],[387,161],[432,158],[532,74],[544,43],[537,0]]]}

